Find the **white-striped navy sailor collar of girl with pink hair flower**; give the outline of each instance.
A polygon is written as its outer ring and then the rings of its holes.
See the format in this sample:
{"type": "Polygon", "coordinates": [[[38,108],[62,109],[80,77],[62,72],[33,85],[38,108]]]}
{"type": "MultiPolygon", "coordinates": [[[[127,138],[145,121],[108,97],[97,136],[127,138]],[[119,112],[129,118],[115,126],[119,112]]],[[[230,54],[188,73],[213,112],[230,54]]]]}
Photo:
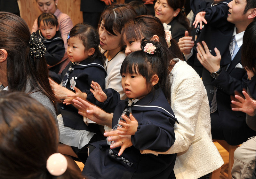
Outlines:
{"type": "MultiPolygon", "coordinates": [[[[129,98],[125,99],[126,104],[128,104],[128,100],[129,98]]],[[[160,88],[156,89],[154,92],[149,93],[147,96],[134,103],[132,105],[132,111],[159,111],[172,117],[175,121],[177,121],[171,106],[169,105],[166,97],[164,96],[164,92],[160,88]],[[163,103],[163,101],[166,102],[163,103]]],[[[177,121],[177,123],[179,122],[177,121]]]]}

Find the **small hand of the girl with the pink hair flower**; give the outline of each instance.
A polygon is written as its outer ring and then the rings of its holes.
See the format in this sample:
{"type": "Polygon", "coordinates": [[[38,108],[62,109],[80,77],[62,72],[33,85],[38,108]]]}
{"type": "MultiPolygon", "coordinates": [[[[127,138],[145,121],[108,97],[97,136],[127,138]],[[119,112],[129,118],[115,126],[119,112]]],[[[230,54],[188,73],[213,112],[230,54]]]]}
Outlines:
{"type": "Polygon", "coordinates": [[[126,121],[119,122],[123,128],[117,128],[117,133],[120,135],[134,135],[138,128],[138,121],[134,118],[132,114],[130,114],[130,118],[125,115],[122,115],[122,118],[126,121]]]}

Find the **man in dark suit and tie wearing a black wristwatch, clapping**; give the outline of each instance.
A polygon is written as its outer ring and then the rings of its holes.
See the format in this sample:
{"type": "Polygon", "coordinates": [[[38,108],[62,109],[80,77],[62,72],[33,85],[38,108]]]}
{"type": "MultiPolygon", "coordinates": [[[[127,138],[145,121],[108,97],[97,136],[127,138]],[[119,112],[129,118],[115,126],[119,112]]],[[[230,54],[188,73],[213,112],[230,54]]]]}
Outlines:
{"type": "MultiPolygon", "coordinates": [[[[217,48],[214,49],[216,56],[213,56],[204,41],[202,45],[197,43],[196,56],[202,66],[210,72],[211,84],[214,86],[213,93],[216,94],[213,95],[211,104],[212,138],[237,145],[256,135],[256,132],[247,126],[245,113],[232,111],[230,106],[230,96],[234,96],[235,91],[242,93],[243,80],[247,79],[247,74],[241,65],[241,46],[244,30],[256,17],[256,2],[255,0],[233,0],[228,7],[227,21],[235,25],[232,40],[230,39],[232,43],[226,49],[230,51],[230,56],[221,59],[217,48]],[[230,61],[230,63],[221,65],[221,60],[230,61]]],[[[218,36],[215,38],[221,41],[218,36]]],[[[192,37],[186,34],[180,39],[179,46],[184,54],[189,54],[194,46],[192,37]]]]}

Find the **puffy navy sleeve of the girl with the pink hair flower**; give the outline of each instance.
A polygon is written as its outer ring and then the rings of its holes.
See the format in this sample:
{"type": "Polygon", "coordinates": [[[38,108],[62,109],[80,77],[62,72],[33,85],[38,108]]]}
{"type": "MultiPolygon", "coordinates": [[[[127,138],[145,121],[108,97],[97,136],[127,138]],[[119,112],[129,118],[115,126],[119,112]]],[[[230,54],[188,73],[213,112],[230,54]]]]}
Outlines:
{"type": "MultiPolygon", "coordinates": [[[[134,115],[136,118],[136,116],[134,115]]],[[[132,144],[140,150],[165,152],[173,145],[175,120],[158,111],[143,112],[137,132],[131,137],[132,144]]]]}

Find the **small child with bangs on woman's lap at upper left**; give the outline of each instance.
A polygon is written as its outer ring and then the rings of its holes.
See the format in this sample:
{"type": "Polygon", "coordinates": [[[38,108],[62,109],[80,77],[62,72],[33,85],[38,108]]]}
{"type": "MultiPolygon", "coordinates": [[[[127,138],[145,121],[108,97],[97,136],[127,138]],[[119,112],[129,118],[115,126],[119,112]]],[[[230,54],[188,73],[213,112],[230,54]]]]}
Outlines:
{"type": "Polygon", "coordinates": [[[46,47],[45,59],[50,71],[58,74],[60,66],[58,63],[64,56],[64,42],[60,36],[58,19],[51,13],[43,13],[37,19],[39,29],[36,35],[46,47]]]}

